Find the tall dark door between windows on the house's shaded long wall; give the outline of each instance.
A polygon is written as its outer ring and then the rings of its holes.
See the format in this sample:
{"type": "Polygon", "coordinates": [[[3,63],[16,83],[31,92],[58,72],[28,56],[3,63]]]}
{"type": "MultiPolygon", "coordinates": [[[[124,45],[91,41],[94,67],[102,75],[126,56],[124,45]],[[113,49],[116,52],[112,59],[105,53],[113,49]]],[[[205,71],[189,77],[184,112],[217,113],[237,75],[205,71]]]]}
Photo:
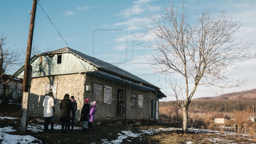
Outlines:
{"type": "Polygon", "coordinates": [[[117,116],[126,117],[126,91],[118,90],[117,116]]]}

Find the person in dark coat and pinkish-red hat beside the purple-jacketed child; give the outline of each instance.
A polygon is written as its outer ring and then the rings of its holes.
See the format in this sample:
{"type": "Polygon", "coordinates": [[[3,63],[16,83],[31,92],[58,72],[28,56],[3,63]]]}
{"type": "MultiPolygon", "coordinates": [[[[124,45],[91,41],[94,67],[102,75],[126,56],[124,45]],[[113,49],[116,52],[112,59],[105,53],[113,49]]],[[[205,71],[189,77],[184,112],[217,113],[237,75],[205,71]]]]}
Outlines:
{"type": "Polygon", "coordinates": [[[87,132],[87,121],[88,121],[88,118],[87,118],[87,115],[89,114],[89,110],[90,110],[90,105],[88,104],[89,102],[89,99],[87,98],[86,100],[84,100],[84,106],[82,107],[82,110],[81,110],[81,118],[80,118],[80,121],[82,122],[83,124],[83,132],[87,132]]]}

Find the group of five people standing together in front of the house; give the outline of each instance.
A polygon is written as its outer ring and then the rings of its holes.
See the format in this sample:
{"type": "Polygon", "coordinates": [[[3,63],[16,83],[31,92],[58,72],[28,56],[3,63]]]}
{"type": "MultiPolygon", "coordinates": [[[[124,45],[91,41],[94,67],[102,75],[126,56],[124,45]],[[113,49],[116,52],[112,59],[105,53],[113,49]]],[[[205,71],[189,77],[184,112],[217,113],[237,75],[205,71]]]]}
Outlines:
{"type": "MultiPolygon", "coordinates": [[[[91,102],[89,105],[89,99],[84,100],[84,105],[81,110],[81,118],[83,124],[84,132],[87,132],[87,125],[90,127],[90,133],[92,133],[92,122],[94,122],[94,114],[97,111],[96,101],[91,102]]],[[[51,130],[54,126],[54,112],[55,112],[55,102],[52,92],[45,95],[44,101],[44,130],[43,132],[48,132],[48,124],[51,121],[51,130]]],[[[62,133],[66,133],[70,130],[70,120],[71,120],[71,130],[74,129],[75,112],[77,110],[77,103],[74,96],[69,98],[69,94],[65,94],[62,101],[59,103],[60,107],[60,122],[62,124],[62,133]],[[65,129],[64,129],[65,128],[65,129]]]]}

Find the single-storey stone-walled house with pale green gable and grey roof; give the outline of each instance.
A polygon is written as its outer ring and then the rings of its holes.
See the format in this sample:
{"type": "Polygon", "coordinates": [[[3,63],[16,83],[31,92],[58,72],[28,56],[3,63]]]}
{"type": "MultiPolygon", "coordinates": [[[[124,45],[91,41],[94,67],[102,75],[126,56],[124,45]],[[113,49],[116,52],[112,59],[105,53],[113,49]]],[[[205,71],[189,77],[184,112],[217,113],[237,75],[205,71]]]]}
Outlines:
{"type": "MultiPolygon", "coordinates": [[[[158,100],[166,97],[160,88],[123,69],[65,47],[31,58],[32,80],[29,114],[43,115],[44,95],[55,97],[55,117],[65,94],[77,102],[80,119],[83,101],[96,101],[96,119],[158,119],[158,100]],[[156,113],[156,114],[155,114],[156,113]]],[[[13,76],[22,79],[24,66],[13,76]]]]}

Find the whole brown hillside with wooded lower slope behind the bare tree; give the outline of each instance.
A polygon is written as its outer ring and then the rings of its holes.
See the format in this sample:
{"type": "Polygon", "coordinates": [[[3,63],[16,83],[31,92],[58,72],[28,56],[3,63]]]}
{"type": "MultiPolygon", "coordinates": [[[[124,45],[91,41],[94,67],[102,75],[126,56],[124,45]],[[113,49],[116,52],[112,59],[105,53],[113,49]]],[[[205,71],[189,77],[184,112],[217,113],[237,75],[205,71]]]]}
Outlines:
{"type": "MultiPolygon", "coordinates": [[[[162,102],[161,106],[177,105],[176,101],[162,102]]],[[[205,112],[228,112],[252,111],[252,106],[256,106],[256,89],[232,92],[219,97],[201,97],[191,100],[188,108],[205,112]]]]}

